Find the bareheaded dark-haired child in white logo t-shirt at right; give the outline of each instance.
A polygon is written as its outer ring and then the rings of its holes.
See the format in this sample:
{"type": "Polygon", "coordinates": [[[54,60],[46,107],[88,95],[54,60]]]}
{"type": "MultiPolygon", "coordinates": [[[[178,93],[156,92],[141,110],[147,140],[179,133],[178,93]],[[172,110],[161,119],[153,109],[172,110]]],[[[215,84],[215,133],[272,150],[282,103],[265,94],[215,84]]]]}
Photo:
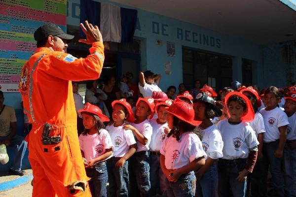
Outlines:
{"type": "Polygon", "coordinates": [[[262,191],[266,195],[268,168],[271,173],[275,196],[284,197],[283,155],[289,125],[286,113],[277,107],[281,97],[278,88],[271,86],[264,92],[265,108],[259,112],[263,116],[266,132],[263,134],[263,177],[262,191]]]}

